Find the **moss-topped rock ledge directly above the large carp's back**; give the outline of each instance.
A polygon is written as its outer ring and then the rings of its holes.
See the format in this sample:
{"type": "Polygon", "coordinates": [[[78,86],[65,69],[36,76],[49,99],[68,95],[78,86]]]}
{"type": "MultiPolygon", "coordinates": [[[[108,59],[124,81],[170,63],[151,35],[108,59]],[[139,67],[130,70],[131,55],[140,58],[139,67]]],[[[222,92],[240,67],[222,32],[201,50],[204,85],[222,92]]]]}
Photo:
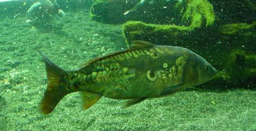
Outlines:
{"type": "Polygon", "coordinates": [[[126,22],[123,24],[122,30],[127,43],[130,43],[133,40],[144,40],[152,42],[159,41],[160,43],[153,43],[161,45],[166,45],[168,41],[172,41],[172,43],[169,43],[170,45],[188,43],[189,38],[193,38],[191,35],[194,32],[189,27],[182,27],[179,25],[146,24],[140,21],[126,22]]]}

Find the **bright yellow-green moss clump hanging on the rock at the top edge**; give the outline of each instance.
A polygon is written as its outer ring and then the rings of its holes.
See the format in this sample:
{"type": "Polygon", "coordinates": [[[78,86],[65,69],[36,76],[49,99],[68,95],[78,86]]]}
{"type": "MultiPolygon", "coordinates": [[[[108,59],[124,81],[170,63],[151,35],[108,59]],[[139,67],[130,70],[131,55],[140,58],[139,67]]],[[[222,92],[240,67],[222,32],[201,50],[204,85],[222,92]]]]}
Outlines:
{"type": "Polygon", "coordinates": [[[188,0],[182,19],[192,29],[200,28],[204,21],[206,27],[211,26],[215,22],[214,8],[207,0],[188,0]]]}

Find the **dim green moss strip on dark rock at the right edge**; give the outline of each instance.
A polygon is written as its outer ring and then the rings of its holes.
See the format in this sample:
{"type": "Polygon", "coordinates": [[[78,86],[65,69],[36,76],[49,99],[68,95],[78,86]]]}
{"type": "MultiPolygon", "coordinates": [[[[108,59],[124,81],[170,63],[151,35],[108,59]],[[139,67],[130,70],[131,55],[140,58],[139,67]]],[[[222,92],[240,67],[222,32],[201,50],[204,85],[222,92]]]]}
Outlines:
{"type": "Polygon", "coordinates": [[[226,24],[222,25],[221,27],[221,33],[227,34],[227,35],[255,35],[256,29],[256,22],[253,22],[252,24],[247,23],[232,23],[232,24],[226,24]]]}

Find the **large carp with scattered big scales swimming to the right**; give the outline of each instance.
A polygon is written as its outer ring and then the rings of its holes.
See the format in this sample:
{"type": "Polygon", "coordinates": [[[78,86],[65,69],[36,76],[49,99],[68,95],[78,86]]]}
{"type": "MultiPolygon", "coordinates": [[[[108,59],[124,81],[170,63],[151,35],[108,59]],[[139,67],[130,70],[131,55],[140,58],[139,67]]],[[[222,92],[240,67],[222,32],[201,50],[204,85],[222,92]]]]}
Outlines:
{"type": "Polygon", "coordinates": [[[74,70],[63,70],[39,51],[45,61],[47,89],[39,103],[41,114],[51,113],[67,94],[80,92],[82,110],[102,96],[127,99],[128,108],[148,98],[164,97],[203,84],[217,69],[193,51],[179,46],[136,40],[130,48],[93,58],[74,70]]]}

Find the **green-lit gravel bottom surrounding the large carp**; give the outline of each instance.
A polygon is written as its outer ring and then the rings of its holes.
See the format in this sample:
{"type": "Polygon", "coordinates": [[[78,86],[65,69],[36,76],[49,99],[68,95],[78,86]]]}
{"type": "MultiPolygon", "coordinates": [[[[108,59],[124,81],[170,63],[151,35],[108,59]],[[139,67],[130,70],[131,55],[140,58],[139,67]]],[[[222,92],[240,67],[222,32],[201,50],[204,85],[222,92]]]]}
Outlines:
{"type": "Polygon", "coordinates": [[[82,2],[59,2],[66,17],[54,20],[50,29],[25,22],[28,5],[0,3],[7,7],[0,10],[0,130],[256,130],[254,85],[215,88],[215,80],[207,89],[201,85],[127,109],[120,108],[125,100],[102,97],[82,111],[79,93],[72,93],[51,114],[41,115],[38,104],[47,77],[37,50],[71,70],[127,48],[122,24],[92,20],[93,2],[82,2]]]}

